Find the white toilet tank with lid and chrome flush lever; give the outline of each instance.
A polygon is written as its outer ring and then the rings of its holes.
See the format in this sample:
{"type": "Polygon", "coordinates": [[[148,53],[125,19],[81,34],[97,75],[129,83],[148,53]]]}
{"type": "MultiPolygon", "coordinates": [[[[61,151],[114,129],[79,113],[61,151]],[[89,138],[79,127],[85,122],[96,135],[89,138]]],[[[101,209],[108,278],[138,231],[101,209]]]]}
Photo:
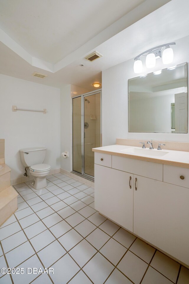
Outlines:
{"type": "Polygon", "coordinates": [[[44,147],[20,149],[19,151],[22,164],[25,167],[42,164],[45,160],[46,150],[47,149],[44,147]]]}

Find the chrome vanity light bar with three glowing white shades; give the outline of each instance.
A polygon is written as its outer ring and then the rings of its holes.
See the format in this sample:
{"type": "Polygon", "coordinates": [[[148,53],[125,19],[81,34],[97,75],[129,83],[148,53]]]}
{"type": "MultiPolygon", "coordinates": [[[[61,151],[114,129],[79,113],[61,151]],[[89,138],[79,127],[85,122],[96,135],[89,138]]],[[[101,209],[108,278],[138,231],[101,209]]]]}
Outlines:
{"type": "Polygon", "coordinates": [[[163,64],[170,64],[173,61],[173,50],[170,48],[170,45],[175,45],[175,43],[166,43],[149,50],[144,51],[143,53],[139,54],[134,58],[134,73],[141,73],[142,72],[142,61],[140,59],[141,56],[146,56],[146,67],[147,68],[154,68],[156,65],[156,59],[162,57],[163,64]],[[162,53],[162,49],[163,50],[162,53]]]}

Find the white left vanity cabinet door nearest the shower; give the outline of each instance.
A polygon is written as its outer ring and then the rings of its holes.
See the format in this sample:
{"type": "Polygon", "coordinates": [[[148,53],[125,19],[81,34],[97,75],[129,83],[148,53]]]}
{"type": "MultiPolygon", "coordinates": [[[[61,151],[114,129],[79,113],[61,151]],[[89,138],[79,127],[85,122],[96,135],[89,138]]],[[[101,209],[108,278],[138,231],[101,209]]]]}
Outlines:
{"type": "Polygon", "coordinates": [[[95,164],[94,176],[94,208],[133,231],[133,174],[95,164]]]}

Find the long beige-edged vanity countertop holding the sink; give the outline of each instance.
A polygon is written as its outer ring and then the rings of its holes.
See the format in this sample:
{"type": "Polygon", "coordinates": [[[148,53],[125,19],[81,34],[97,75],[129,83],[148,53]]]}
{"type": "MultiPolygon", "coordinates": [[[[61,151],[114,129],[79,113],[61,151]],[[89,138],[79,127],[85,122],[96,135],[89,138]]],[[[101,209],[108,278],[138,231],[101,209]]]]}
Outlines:
{"type": "MultiPolygon", "coordinates": [[[[146,147],[146,149],[149,151],[149,148],[146,147]]],[[[175,150],[167,150],[163,149],[161,152],[167,152],[164,156],[153,156],[153,151],[157,151],[157,149],[150,150],[152,151],[150,155],[147,155],[146,149],[142,149],[142,147],[135,147],[135,146],[126,146],[126,145],[110,145],[110,146],[104,146],[99,148],[93,148],[93,152],[98,153],[104,153],[104,154],[110,154],[114,156],[120,156],[120,157],[126,157],[136,160],[143,160],[143,161],[149,161],[149,162],[155,162],[160,164],[167,164],[177,167],[183,167],[183,168],[189,168],[189,152],[185,151],[175,151],[175,150]],[[126,152],[127,149],[131,148],[137,148],[144,151],[144,154],[135,154],[135,153],[129,153],[126,152]],[[123,151],[125,150],[125,151],[123,151]]],[[[149,153],[148,153],[149,154],[149,153]]],[[[154,153],[155,154],[155,153],[154,153]]]]}

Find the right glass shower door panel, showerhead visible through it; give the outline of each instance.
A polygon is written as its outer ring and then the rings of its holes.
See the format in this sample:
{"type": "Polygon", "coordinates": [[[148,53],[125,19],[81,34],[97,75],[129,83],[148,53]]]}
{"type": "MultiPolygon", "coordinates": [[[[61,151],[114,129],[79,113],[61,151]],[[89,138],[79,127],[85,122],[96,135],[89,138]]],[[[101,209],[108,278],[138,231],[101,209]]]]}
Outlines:
{"type": "Polygon", "coordinates": [[[84,174],[94,177],[94,152],[100,147],[100,92],[84,96],[84,174]]]}

